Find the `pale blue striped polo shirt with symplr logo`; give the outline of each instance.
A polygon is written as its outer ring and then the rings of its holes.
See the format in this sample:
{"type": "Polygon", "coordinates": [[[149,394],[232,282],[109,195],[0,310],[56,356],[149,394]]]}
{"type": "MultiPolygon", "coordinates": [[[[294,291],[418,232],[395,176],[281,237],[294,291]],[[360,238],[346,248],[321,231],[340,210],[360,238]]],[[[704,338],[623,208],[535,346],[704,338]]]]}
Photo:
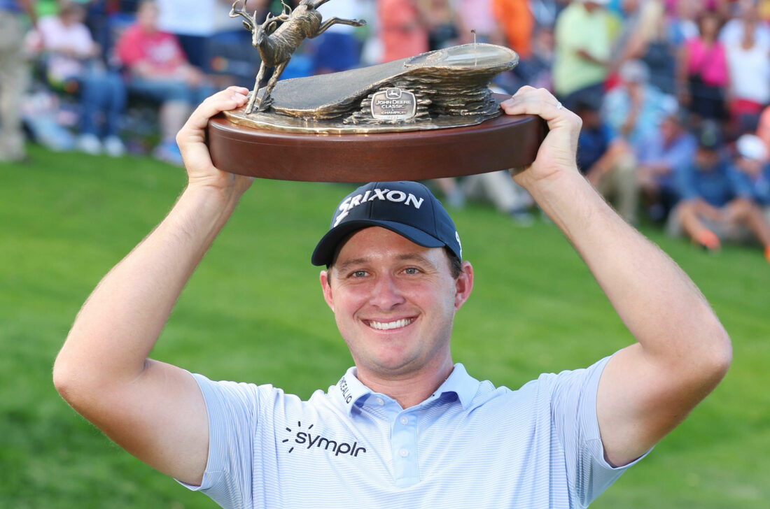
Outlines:
{"type": "Polygon", "coordinates": [[[196,374],[209,414],[203,484],[222,507],[586,507],[627,468],[604,460],[605,358],[517,391],[462,364],[403,410],[350,368],[309,401],[196,374]]]}

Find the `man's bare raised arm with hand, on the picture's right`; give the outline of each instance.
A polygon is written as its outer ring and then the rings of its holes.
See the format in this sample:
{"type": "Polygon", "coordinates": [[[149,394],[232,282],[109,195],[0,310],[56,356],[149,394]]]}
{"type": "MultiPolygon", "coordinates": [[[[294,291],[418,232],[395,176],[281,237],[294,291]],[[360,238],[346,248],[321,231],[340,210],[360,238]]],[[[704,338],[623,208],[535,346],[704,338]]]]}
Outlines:
{"type": "Polygon", "coordinates": [[[541,115],[551,131],[514,180],[564,231],[638,343],[608,362],[597,394],[604,454],[616,466],[644,454],[718,384],[731,361],[725,329],[695,284],[623,221],[577,172],[581,121],[544,90],[524,87],[509,115],[541,115]]]}

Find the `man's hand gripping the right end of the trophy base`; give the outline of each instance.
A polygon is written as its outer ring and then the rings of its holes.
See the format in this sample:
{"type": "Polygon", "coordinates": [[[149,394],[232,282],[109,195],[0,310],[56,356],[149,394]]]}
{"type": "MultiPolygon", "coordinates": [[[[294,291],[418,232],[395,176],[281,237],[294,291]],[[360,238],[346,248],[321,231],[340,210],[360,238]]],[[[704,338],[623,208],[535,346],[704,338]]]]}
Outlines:
{"type": "Polygon", "coordinates": [[[507,115],[539,115],[547,121],[550,131],[545,137],[534,163],[514,175],[518,185],[530,190],[534,185],[559,178],[564,172],[577,174],[577,137],[582,121],[544,88],[522,87],[500,107],[507,115]]]}

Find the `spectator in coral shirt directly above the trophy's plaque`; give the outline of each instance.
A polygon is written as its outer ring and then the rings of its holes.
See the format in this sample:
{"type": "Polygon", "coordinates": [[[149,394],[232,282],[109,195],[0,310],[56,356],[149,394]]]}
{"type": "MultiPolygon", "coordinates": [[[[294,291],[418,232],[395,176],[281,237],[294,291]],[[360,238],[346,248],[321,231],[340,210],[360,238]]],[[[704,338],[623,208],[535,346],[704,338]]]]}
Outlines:
{"type": "Polygon", "coordinates": [[[378,0],[382,61],[419,55],[428,51],[426,18],[417,0],[378,0]]]}

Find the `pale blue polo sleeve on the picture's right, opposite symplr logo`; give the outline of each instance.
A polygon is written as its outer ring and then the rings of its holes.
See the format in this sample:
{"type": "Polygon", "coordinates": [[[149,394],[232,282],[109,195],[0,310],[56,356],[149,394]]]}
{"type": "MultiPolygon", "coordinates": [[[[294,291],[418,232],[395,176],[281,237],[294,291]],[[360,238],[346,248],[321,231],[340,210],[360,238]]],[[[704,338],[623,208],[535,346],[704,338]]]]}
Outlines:
{"type": "Polygon", "coordinates": [[[596,393],[609,359],[604,358],[586,369],[563,371],[555,375],[551,385],[551,418],[564,448],[570,496],[575,507],[587,507],[628,467],[641,460],[639,457],[622,467],[613,467],[604,459],[596,393]]]}

